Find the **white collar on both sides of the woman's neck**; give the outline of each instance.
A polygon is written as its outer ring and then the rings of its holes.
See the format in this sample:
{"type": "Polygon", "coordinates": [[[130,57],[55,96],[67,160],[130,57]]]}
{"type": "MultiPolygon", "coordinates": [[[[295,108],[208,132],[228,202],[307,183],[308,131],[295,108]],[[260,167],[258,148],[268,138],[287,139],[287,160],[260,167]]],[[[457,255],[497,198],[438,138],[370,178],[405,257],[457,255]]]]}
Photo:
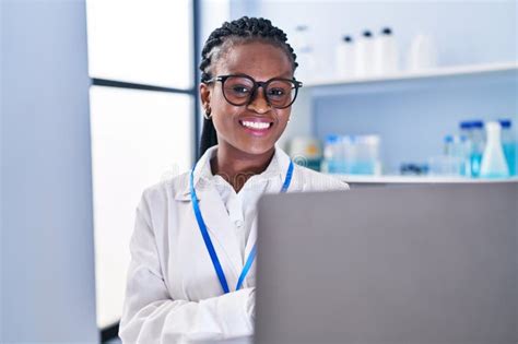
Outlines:
{"type": "MultiPolygon", "coordinates": [[[[215,176],[212,175],[210,164],[211,158],[216,154],[216,152],[217,145],[210,147],[196,164],[193,181],[198,199],[201,199],[203,197],[204,192],[202,191],[204,189],[210,188],[214,181],[217,182],[215,176]]],[[[290,156],[284,153],[283,150],[275,145],[275,152],[273,154],[272,161],[270,162],[270,165],[268,165],[267,169],[262,174],[254,176],[252,178],[258,178],[261,180],[278,178],[282,182],[286,176],[289,165],[290,156]]],[[[178,192],[176,193],[176,200],[190,200],[190,171],[187,174],[186,177],[187,180],[185,180],[185,182],[181,182],[180,190],[178,190],[178,192]]]]}

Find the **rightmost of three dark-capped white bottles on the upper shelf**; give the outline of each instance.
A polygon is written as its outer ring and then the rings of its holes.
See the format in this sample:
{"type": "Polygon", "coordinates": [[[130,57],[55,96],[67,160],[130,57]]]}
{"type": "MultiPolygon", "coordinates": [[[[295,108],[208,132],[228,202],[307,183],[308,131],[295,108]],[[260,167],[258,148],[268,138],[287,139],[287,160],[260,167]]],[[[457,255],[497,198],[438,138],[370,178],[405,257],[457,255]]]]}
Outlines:
{"type": "Polygon", "coordinates": [[[390,27],[381,29],[375,39],[374,70],[377,75],[393,74],[399,71],[398,43],[390,27]]]}

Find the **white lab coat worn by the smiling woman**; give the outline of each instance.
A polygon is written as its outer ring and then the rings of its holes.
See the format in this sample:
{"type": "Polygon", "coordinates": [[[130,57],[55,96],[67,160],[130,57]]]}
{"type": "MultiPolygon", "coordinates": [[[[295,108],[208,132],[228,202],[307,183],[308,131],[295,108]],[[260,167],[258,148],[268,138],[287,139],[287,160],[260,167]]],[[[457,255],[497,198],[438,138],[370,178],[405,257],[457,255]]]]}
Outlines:
{"type": "MultiPolygon", "coordinates": [[[[210,154],[205,153],[197,164],[195,187],[214,249],[234,290],[243,257],[248,257],[257,233],[250,232],[243,253],[229,230],[234,224],[220,194],[200,178],[210,154]]],[[[290,164],[280,149],[274,158],[279,174],[268,181],[266,192],[279,192],[290,164]]],[[[348,186],[295,165],[287,192],[340,189],[348,186]]],[[[255,269],[250,269],[242,289],[223,295],[192,211],[188,173],[144,191],[137,209],[130,251],[119,330],[123,343],[183,343],[252,334],[255,269]]]]}

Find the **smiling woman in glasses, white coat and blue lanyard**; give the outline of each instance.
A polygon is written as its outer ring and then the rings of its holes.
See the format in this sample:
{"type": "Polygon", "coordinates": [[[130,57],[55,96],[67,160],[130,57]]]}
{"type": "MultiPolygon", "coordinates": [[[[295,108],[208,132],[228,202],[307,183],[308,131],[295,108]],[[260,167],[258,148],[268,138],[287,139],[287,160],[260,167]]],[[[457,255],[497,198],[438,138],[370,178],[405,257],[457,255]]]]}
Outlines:
{"type": "Polygon", "coordinates": [[[285,34],[264,19],[215,29],[202,50],[202,157],[137,209],[119,335],[175,343],[251,335],[256,203],[266,192],[346,189],[275,142],[302,85],[285,34]]]}

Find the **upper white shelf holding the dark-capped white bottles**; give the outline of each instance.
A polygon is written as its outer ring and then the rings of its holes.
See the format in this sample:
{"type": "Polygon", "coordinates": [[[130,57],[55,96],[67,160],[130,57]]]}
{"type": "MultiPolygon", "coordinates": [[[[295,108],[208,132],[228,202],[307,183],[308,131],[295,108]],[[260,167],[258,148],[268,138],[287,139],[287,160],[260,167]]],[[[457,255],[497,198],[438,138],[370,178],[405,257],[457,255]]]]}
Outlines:
{"type": "Polygon", "coordinates": [[[514,81],[518,75],[518,61],[491,63],[491,64],[473,64],[473,66],[458,66],[458,67],[444,67],[433,70],[426,70],[422,72],[400,72],[389,74],[385,76],[373,76],[373,78],[355,78],[355,79],[327,79],[327,80],[313,80],[304,83],[304,87],[319,90],[328,88],[329,86],[337,88],[343,87],[361,87],[372,86],[378,84],[401,84],[409,82],[426,82],[447,80],[451,78],[461,79],[479,79],[479,78],[508,78],[510,76],[514,81]],[[342,87],[343,86],[343,87],[342,87]]]}

